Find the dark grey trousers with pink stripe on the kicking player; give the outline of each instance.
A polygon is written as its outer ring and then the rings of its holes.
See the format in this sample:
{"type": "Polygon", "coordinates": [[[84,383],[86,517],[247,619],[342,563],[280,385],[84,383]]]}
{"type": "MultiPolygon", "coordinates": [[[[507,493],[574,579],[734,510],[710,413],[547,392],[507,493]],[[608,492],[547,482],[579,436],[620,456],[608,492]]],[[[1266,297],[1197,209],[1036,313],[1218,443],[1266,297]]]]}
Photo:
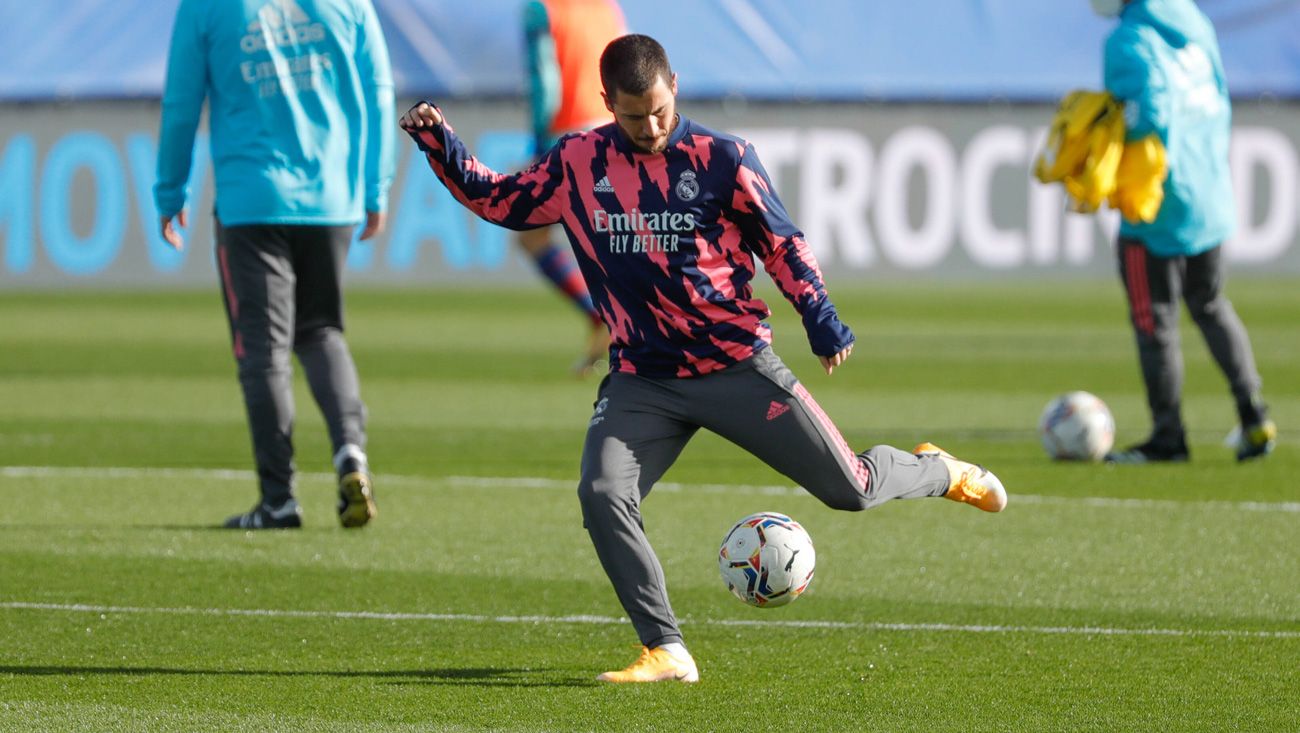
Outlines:
{"type": "Polygon", "coordinates": [[[948,469],[937,457],[888,446],[854,455],[771,348],[703,377],[610,374],[588,428],[577,493],[601,565],[650,647],[680,642],[681,630],[641,524],[641,500],[699,428],[754,454],[835,509],[948,490],[948,469]]]}

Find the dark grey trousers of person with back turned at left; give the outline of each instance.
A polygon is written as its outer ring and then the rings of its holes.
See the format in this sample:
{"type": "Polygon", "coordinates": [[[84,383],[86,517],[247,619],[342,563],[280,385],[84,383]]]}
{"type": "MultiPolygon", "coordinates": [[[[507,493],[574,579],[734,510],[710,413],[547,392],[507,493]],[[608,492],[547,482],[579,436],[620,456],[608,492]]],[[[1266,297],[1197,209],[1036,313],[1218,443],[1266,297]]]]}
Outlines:
{"type": "Polygon", "coordinates": [[[365,405],[343,341],[342,276],[352,226],[217,225],[217,269],[263,502],[294,491],[290,351],[337,452],[365,447],[365,405]]]}

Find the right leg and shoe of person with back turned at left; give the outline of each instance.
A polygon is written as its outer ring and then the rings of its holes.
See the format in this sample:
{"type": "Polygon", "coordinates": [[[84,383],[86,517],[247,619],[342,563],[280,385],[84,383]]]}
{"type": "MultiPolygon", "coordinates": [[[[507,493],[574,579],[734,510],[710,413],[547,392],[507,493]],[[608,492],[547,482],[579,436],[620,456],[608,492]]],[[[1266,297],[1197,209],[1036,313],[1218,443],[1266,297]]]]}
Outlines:
{"type": "Polygon", "coordinates": [[[347,528],[364,526],[377,513],[365,456],[365,404],[356,364],[343,338],[342,279],[352,229],[292,227],[298,277],[294,354],[329,429],[338,474],[338,517],[347,528]]]}

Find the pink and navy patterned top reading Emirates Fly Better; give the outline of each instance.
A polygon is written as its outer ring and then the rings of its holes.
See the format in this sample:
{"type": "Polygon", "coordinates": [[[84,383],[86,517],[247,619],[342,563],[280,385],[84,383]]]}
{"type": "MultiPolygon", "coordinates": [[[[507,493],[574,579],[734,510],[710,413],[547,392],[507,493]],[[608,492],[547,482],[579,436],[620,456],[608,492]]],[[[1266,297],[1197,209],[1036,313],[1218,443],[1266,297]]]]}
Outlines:
{"type": "Polygon", "coordinates": [[[686,117],[662,153],[616,123],[562,138],[506,175],[469,155],[450,123],[408,131],[451,194],[510,229],[560,224],[610,328],[610,369],[694,377],[771,343],[754,298],[755,257],[803,318],[812,352],[854,342],[822,270],[753,146],[686,117]]]}

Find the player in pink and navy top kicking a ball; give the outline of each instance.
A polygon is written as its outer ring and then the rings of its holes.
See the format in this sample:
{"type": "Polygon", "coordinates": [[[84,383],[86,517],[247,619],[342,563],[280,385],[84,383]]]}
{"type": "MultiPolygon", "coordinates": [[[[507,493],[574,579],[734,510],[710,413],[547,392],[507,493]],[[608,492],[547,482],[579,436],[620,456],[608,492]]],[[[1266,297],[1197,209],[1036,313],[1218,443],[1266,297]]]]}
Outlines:
{"type": "Polygon", "coordinates": [[[514,175],[474,160],[442,113],[420,103],[402,127],[433,172],[480,217],[512,229],[560,224],[601,317],[610,374],[582,448],[582,520],[644,650],[606,682],[694,682],[699,672],[668,603],[640,504],[696,430],[750,451],[835,509],[945,496],[1006,506],[991,472],[930,443],[854,455],[771,348],[754,260],[803,317],[829,374],[853,352],[807,243],[754,148],[676,113],[677,77],[645,35],[601,56],[615,121],[566,135],[514,175]]]}

